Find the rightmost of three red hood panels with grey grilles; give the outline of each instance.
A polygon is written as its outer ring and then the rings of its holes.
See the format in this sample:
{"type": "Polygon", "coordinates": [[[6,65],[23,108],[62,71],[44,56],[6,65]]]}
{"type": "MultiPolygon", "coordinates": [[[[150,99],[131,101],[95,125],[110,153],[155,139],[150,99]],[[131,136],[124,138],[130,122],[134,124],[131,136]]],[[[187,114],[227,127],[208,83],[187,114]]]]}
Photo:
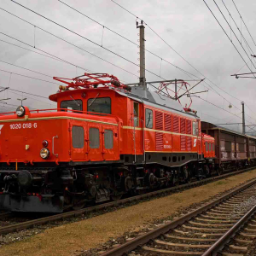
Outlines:
{"type": "Polygon", "coordinates": [[[104,160],[119,160],[118,126],[102,125],[102,155],[104,160]]]}

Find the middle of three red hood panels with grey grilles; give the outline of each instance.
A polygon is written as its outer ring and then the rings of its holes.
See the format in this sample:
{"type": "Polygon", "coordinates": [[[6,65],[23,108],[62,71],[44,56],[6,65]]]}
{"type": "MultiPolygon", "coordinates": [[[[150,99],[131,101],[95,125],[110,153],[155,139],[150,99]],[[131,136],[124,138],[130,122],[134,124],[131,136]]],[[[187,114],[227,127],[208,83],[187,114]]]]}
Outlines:
{"type": "Polygon", "coordinates": [[[103,160],[103,142],[102,142],[102,125],[97,123],[88,123],[87,126],[87,154],[88,160],[103,160]]]}

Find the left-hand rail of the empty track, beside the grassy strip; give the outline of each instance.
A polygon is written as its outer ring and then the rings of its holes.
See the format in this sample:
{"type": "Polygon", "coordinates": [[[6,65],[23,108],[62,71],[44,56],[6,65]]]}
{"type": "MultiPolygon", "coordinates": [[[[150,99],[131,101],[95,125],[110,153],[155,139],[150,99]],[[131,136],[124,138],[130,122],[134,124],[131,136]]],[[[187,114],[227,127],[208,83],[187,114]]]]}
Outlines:
{"type": "Polygon", "coordinates": [[[206,212],[210,208],[218,205],[219,203],[226,201],[230,197],[241,192],[241,190],[247,189],[255,183],[256,183],[256,178],[253,179],[253,181],[250,181],[249,183],[241,185],[239,188],[229,192],[228,194],[223,195],[222,197],[220,197],[212,202],[209,202],[200,208],[197,208],[193,212],[189,212],[189,213],[183,215],[182,217],[177,218],[176,220],[173,220],[172,222],[170,222],[168,224],[164,224],[155,230],[151,230],[151,231],[147,232],[146,234],[144,234],[142,236],[137,236],[132,241],[127,241],[124,244],[120,245],[119,247],[114,247],[113,249],[109,250],[106,253],[102,253],[101,255],[102,256],[120,256],[120,255],[123,255],[124,253],[131,252],[132,250],[136,249],[137,247],[140,247],[143,244],[146,244],[148,241],[154,240],[156,237],[167,233],[169,230],[177,228],[178,225],[184,224],[186,221],[188,221],[191,218],[194,218],[198,214],[201,214],[202,212],[206,212]]]}

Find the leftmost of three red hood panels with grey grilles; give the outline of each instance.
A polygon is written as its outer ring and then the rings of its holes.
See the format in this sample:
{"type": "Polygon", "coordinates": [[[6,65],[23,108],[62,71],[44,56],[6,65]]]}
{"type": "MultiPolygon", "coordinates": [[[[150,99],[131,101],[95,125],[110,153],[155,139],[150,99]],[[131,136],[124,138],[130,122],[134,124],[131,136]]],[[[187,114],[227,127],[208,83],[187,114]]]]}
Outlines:
{"type": "Polygon", "coordinates": [[[71,131],[70,154],[72,160],[87,160],[86,154],[86,123],[72,120],[69,131],[71,131]]]}

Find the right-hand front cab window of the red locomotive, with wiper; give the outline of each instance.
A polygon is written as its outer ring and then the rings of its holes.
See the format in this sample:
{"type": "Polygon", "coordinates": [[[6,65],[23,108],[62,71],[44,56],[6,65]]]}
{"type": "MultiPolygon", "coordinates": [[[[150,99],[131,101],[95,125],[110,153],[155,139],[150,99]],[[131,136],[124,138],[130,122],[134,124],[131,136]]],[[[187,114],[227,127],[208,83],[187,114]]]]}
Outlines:
{"type": "Polygon", "coordinates": [[[91,98],[87,102],[87,111],[94,113],[111,113],[111,98],[91,98]]]}

